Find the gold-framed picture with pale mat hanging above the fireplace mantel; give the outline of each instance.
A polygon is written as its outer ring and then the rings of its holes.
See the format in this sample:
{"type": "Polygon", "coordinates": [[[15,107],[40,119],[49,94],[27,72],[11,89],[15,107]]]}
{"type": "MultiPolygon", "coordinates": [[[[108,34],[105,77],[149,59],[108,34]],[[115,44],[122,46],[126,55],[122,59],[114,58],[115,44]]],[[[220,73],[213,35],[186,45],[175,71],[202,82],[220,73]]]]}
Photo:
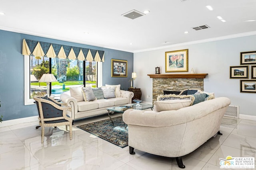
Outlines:
{"type": "Polygon", "coordinates": [[[188,71],[188,49],[165,52],[165,72],[188,71]]]}

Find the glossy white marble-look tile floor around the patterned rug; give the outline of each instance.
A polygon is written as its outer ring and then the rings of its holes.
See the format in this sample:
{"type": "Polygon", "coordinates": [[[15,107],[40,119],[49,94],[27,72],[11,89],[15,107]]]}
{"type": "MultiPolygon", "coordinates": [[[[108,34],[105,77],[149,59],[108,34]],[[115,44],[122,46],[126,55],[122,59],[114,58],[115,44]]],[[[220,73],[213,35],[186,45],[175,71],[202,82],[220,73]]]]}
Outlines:
{"type": "MultiPolygon", "coordinates": [[[[116,116],[119,116],[115,113],[116,116]]],[[[0,128],[0,170],[180,170],[175,158],[120,148],[76,126],[108,119],[107,115],[75,121],[73,139],[63,127],[46,128],[41,144],[37,122],[0,128]]],[[[187,170],[220,169],[219,158],[256,157],[256,121],[224,118],[220,131],[183,157],[187,170]]],[[[256,168],[254,168],[256,169],[256,168]]]]}

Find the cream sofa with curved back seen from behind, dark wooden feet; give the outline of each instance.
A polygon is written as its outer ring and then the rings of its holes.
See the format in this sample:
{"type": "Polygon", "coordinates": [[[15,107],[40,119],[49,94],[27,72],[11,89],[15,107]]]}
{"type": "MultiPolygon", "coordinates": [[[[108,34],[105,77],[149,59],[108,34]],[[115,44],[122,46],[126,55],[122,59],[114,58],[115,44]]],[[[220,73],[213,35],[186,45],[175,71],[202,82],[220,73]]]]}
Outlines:
{"type": "Polygon", "coordinates": [[[228,98],[220,97],[178,110],[124,111],[130,154],[135,154],[135,148],[175,157],[178,166],[185,168],[182,156],[200,147],[216,133],[221,134],[220,122],[229,104],[228,98]]]}

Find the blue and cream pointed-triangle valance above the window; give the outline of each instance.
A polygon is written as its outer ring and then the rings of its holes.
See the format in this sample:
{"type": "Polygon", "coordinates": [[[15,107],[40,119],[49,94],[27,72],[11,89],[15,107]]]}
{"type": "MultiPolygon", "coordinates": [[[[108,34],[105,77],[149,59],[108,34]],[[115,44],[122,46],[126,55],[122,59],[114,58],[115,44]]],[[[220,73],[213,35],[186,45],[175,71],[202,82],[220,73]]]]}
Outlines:
{"type": "Polygon", "coordinates": [[[104,51],[23,39],[22,55],[104,62],[104,51]]]}

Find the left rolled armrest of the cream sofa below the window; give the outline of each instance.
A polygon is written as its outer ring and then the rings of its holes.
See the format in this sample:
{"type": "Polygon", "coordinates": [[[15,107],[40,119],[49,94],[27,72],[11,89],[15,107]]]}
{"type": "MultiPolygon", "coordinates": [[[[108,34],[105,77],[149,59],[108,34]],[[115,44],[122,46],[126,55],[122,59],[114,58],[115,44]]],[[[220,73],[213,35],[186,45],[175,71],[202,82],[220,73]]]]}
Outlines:
{"type": "Polygon", "coordinates": [[[71,113],[68,113],[68,115],[75,119],[75,114],[78,112],[78,104],[75,98],[70,96],[70,92],[64,92],[60,95],[60,99],[62,102],[66,103],[68,106],[71,107],[71,113]]]}

